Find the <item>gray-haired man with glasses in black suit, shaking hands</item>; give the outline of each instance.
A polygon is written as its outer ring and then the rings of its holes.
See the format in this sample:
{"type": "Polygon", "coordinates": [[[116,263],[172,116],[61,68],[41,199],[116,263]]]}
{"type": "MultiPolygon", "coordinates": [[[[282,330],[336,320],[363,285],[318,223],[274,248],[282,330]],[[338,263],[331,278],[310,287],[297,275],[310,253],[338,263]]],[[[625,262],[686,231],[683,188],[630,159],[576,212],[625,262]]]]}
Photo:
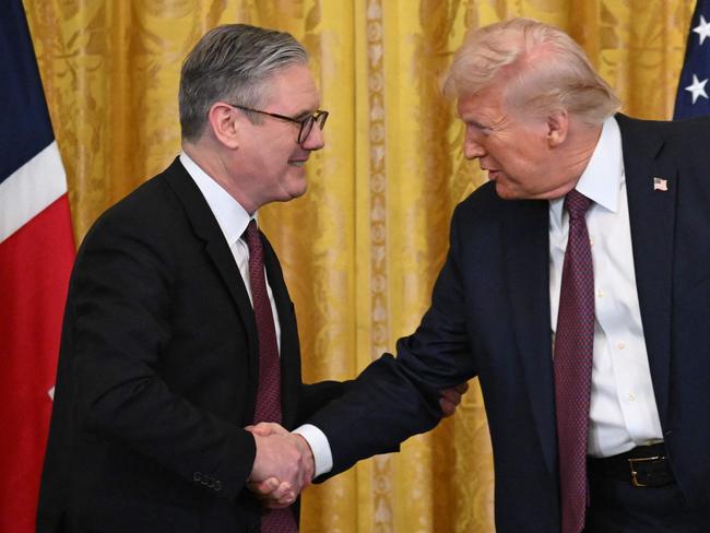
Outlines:
{"type": "Polygon", "coordinates": [[[297,531],[291,504],[322,469],[319,435],[275,423],[296,427],[345,384],[301,382],[293,304],[256,214],[301,196],[323,146],[307,61],[291,35],[244,24],[209,32],[185,61],[182,153],[76,257],[37,531],[297,531]],[[271,430],[248,430],[260,422],[271,430]],[[270,496],[265,512],[249,488],[270,496]]]}

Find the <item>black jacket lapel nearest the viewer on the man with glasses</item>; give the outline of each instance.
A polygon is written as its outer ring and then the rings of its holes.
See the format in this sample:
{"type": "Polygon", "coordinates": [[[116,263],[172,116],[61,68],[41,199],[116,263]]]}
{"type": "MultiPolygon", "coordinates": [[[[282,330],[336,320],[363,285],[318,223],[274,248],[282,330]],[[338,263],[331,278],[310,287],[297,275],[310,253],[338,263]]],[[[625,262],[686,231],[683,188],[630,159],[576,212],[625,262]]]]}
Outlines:
{"type": "Polygon", "coordinates": [[[247,331],[249,345],[249,383],[253,389],[250,391],[250,398],[256,398],[257,383],[259,382],[259,336],[253,308],[251,307],[251,301],[249,300],[249,295],[244,285],[239,269],[210,206],[179,159],[176,158],[173,162],[164,176],[180,200],[194,234],[204,241],[205,253],[214,263],[222,281],[227,287],[237,308],[239,318],[247,331]]]}

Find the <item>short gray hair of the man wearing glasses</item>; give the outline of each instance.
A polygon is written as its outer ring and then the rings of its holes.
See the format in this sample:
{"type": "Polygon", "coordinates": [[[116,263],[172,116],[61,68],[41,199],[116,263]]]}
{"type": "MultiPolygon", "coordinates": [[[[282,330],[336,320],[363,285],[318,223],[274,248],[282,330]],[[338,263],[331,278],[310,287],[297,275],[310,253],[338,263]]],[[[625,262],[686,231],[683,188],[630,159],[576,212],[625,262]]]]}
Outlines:
{"type": "Polygon", "coordinates": [[[182,63],[178,96],[182,138],[197,140],[202,135],[215,102],[257,108],[268,96],[267,83],[272,75],[307,62],[306,49],[285,32],[248,24],[211,29],[182,63]]]}

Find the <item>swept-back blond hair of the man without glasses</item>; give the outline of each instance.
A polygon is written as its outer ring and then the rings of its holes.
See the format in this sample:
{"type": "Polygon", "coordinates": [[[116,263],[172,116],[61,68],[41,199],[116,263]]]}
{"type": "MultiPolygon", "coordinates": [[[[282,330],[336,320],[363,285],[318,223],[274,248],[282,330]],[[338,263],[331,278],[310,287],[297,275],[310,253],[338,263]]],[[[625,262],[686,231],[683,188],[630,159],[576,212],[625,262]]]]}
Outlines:
{"type": "Polygon", "coordinates": [[[446,75],[443,93],[470,96],[494,83],[501,83],[507,106],[528,115],[565,109],[596,126],[620,107],[569,35],[530,19],[469,32],[446,75]]]}

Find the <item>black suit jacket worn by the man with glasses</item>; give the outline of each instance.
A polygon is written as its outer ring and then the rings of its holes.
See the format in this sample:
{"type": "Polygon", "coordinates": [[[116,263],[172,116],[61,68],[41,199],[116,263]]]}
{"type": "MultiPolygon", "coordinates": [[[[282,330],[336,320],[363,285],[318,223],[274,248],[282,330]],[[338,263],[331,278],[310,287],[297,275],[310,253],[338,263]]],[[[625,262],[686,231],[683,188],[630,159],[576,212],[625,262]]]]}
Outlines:
{"type": "MultiPolygon", "coordinates": [[[[283,425],[340,393],[300,379],[294,306],[281,322],[283,425]]],[[[76,257],[64,311],[37,529],[246,532],[258,336],[216,220],[176,159],[108,210],[76,257]]]]}

